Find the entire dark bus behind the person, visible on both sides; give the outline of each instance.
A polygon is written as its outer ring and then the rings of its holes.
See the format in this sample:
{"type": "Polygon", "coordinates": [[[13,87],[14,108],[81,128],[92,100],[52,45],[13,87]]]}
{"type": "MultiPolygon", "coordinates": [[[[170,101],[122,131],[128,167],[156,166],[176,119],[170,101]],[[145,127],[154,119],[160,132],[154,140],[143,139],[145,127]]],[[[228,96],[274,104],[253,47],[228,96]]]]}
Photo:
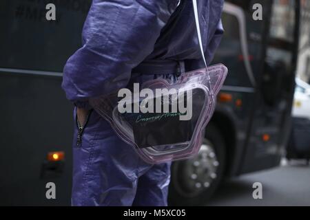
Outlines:
{"type": "MultiPolygon", "coordinates": [[[[70,205],[72,104],[63,66],[81,47],[91,0],[0,1],[0,206],[70,205]],[[47,199],[49,183],[56,199],[47,199]]],[[[300,2],[229,0],[214,63],[229,75],[200,153],[172,164],[169,203],[204,204],[225,177],[278,166],[287,142],[300,2]],[[262,21],[252,17],[262,5],[262,21]],[[271,15],[271,16],[270,16],[271,15]]]]}

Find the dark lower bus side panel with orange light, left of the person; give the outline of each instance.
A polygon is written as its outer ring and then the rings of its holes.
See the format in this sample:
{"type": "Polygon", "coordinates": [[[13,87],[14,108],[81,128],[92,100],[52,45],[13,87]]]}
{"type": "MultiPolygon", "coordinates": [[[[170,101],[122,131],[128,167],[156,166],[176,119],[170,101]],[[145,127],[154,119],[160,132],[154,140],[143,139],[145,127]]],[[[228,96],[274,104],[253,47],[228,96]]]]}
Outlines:
{"type": "Polygon", "coordinates": [[[72,105],[61,78],[0,73],[0,205],[69,205],[72,175],[72,105]],[[63,162],[48,153],[63,151],[63,162]],[[56,199],[46,199],[48,182],[56,199]]]}

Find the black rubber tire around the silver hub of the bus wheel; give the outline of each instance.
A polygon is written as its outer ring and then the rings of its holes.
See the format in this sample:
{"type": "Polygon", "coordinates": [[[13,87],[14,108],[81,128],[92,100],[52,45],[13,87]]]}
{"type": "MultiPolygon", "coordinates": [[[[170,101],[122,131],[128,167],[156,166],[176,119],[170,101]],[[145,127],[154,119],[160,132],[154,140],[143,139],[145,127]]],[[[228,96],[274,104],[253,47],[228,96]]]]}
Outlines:
{"type": "MultiPolygon", "coordinates": [[[[207,125],[205,137],[207,139],[207,143],[212,144],[214,146],[216,159],[218,161],[217,163],[218,165],[216,168],[216,178],[210,182],[208,188],[200,187],[200,189],[197,192],[193,193],[189,192],[188,188],[185,186],[188,185],[189,181],[194,180],[187,178],[186,177],[187,175],[185,175],[185,173],[186,170],[189,169],[189,166],[191,166],[190,162],[194,161],[195,158],[200,157],[197,156],[194,157],[193,159],[174,162],[172,164],[172,177],[169,186],[169,195],[168,195],[169,206],[203,206],[205,205],[205,203],[207,203],[207,201],[211,198],[211,196],[214,195],[214,192],[220,185],[225,170],[225,141],[223,135],[220,133],[220,130],[214,124],[207,125]]],[[[205,177],[207,178],[207,176],[205,177]]]]}

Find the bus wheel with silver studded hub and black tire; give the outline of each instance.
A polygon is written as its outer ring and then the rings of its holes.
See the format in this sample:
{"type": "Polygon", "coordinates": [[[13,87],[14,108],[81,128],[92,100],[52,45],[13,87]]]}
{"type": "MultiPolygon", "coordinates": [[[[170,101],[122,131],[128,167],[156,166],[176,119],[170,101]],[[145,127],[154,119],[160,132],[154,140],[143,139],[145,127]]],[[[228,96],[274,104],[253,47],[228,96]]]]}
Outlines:
{"type": "Polygon", "coordinates": [[[209,124],[198,155],[172,164],[169,205],[205,205],[218,188],[224,168],[224,138],[209,124]]]}

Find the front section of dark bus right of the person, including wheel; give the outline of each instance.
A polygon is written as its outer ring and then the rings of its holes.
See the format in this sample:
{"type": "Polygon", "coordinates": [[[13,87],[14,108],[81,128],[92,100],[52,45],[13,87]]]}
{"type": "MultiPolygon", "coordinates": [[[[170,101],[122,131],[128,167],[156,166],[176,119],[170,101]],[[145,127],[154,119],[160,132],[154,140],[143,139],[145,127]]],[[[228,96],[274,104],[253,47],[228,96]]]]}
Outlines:
{"type": "Polygon", "coordinates": [[[228,67],[199,154],[172,165],[169,201],[204,204],[225,178],[273,168],[289,138],[300,1],[225,1],[213,63],[228,67]],[[259,4],[262,20],[254,19],[259,4]]]}

